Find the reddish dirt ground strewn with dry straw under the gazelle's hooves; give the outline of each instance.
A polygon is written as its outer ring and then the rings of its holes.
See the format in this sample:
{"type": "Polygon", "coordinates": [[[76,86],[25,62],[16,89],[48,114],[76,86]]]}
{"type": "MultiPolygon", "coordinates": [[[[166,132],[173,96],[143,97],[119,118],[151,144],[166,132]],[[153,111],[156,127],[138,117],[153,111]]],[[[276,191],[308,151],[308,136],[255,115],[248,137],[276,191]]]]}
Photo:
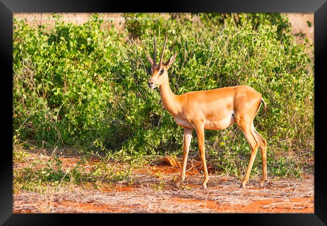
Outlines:
{"type": "MultiPolygon", "coordinates": [[[[46,161],[50,157],[30,154],[46,161]]],[[[63,170],[76,165],[80,157],[62,156],[63,170]]],[[[89,170],[98,160],[85,164],[89,170]]],[[[126,166],[112,163],[115,167],[126,166]]],[[[28,161],[14,162],[14,170],[28,161]]],[[[192,164],[193,165],[193,164],[192,164]]],[[[201,189],[203,174],[197,166],[188,165],[186,180],[179,189],[174,181],[181,167],[156,161],[132,170],[130,179],[103,183],[95,189],[92,184],[61,186],[44,194],[19,191],[13,195],[14,213],[314,213],[314,178],[269,177],[264,188],[259,177],[251,177],[240,189],[240,179],[209,173],[208,189],[201,189]]],[[[36,166],[37,168],[37,166],[36,166]]],[[[210,167],[209,167],[210,169],[210,167]]],[[[269,176],[269,175],[268,175],[269,176]]]]}

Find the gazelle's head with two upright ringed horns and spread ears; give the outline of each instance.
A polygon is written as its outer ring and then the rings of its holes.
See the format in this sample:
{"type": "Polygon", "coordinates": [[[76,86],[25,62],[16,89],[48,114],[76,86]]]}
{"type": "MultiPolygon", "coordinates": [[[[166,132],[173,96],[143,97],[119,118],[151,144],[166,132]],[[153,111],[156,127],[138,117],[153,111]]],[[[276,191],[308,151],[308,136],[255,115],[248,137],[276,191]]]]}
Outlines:
{"type": "Polygon", "coordinates": [[[163,84],[168,79],[167,70],[174,63],[176,55],[177,55],[177,52],[176,52],[166,63],[162,63],[163,52],[165,52],[166,44],[167,44],[167,31],[166,31],[165,43],[163,44],[160,61],[158,64],[156,64],[155,34],[153,36],[153,46],[154,46],[153,59],[147,53],[145,53],[147,56],[147,60],[151,64],[151,77],[149,78],[147,85],[152,90],[155,87],[158,87],[161,84],[163,84]]]}

